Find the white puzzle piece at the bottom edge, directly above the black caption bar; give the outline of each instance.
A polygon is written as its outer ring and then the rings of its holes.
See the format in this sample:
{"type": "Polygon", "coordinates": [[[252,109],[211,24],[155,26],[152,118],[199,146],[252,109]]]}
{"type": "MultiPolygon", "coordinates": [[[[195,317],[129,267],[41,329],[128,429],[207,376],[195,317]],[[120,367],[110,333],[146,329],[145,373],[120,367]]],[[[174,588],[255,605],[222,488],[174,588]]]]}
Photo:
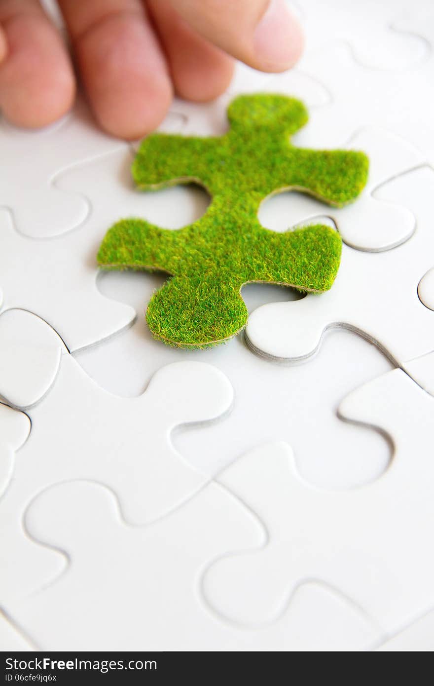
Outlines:
{"type": "Polygon", "coordinates": [[[69,482],[39,495],[26,525],[69,558],[50,587],[8,608],[42,650],[363,650],[378,640],[345,598],[309,582],[271,627],[245,631],[210,613],[204,567],[263,541],[254,514],[218,484],[130,527],[110,490],[69,482]]]}

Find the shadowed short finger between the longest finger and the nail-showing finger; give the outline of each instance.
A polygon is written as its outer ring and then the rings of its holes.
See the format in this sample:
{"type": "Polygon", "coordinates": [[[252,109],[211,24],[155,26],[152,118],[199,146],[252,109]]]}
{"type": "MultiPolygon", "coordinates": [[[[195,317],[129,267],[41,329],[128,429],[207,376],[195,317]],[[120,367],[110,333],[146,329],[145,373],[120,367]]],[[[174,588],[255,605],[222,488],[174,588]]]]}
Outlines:
{"type": "Polygon", "coordinates": [[[234,71],[232,58],[191,29],[173,10],[170,0],[148,0],[147,6],[178,95],[203,102],[224,93],[234,71]]]}

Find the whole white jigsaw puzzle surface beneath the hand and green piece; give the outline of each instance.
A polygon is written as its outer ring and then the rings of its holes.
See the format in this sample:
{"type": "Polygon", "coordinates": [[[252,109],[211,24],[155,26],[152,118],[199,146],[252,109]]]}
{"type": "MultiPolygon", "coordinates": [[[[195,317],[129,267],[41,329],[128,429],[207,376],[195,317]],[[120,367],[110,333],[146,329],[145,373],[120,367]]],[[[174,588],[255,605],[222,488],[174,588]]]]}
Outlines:
{"type": "Polygon", "coordinates": [[[160,130],[222,134],[237,93],[286,93],[295,145],[364,150],[370,176],[343,209],[263,202],[272,230],[334,226],[341,267],[322,295],[243,287],[225,346],[154,341],[165,277],[96,266],[113,222],[176,230],[206,191],[134,189],[136,143],[83,99],[0,121],[2,650],[434,649],[434,10],[290,4],[296,69],[237,65],[160,130]]]}

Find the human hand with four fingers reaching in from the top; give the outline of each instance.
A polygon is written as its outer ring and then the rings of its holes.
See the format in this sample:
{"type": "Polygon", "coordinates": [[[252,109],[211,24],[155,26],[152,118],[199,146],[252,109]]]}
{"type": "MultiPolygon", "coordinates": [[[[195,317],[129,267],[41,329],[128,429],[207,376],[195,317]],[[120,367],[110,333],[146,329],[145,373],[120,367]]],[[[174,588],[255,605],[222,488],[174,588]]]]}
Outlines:
{"type": "MultiPolygon", "coordinates": [[[[283,0],[58,0],[77,78],[100,126],[134,139],[158,126],[173,91],[206,101],[223,93],[233,58],[284,71],[302,32],[283,0]]],[[[38,127],[69,110],[71,58],[38,0],[0,0],[0,108],[38,127]]]]}

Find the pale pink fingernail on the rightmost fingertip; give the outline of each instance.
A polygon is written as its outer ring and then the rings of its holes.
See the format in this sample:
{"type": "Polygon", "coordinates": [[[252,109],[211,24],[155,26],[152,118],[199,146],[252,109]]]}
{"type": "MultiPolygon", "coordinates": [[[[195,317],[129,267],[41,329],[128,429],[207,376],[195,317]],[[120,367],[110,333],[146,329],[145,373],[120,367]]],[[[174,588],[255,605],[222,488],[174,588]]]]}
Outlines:
{"type": "Polygon", "coordinates": [[[298,60],[303,34],[284,0],[271,0],[254,33],[256,59],[267,71],[288,69],[298,60]]]}

